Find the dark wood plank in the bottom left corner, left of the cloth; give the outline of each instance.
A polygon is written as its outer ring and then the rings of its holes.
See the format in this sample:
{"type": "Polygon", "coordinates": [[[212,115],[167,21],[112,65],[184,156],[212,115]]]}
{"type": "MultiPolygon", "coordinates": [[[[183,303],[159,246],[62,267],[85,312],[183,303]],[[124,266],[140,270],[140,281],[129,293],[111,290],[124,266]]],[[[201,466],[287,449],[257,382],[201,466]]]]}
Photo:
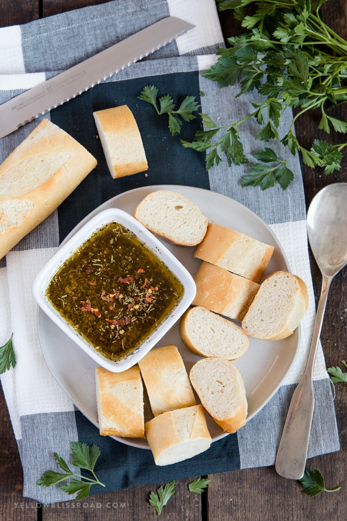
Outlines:
{"type": "MultiPolygon", "coordinates": [[[[1,11],[0,11],[1,12],[1,11]]],[[[17,442],[12,430],[3,389],[0,386],[0,519],[33,521],[37,519],[37,503],[23,498],[23,471],[17,442]]]]}

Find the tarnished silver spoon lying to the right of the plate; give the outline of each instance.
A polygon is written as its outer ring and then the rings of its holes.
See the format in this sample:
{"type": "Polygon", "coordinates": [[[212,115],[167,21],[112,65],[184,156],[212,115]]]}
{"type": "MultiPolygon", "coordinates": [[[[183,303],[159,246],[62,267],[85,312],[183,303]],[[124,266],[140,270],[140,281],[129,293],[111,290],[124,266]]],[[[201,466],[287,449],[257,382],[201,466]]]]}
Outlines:
{"type": "Polygon", "coordinates": [[[330,184],[313,198],[307,211],[307,236],[323,280],[309,358],[293,393],[276,457],[276,471],[289,479],[300,479],[305,472],[314,408],[314,360],[330,283],[347,264],[347,183],[330,184]]]}

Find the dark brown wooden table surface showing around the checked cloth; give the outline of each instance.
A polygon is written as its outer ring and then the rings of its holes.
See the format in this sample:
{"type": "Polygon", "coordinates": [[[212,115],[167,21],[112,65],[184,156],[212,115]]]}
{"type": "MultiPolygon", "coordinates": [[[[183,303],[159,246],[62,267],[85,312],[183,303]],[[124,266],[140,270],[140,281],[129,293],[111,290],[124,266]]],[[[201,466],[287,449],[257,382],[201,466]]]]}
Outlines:
{"type": "MultiPolygon", "coordinates": [[[[61,13],[87,5],[101,4],[105,0],[0,0],[0,26],[25,23],[37,18],[61,13]]],[[[202,2],[203,5],[203,2],[202,2]]],[[[347,36],[347,3],[330,0],[325,6],[325,21],[341,36],[347,36]]],[[[236,34],[232,11],[220,14],[225,38],[236,34]]],[[[335,109],[335,114],[347,119],[347,107],[335,109]]],[[[318,130],[316,115],[307,116],[296,129],[297,135],[309,148],[315,138],[325,139],[318,130]]],[[[340,172],[325,176],[302,165],[306,204],[327,184],[347,182],[347,154],[340,172]]],[[[347,359],[347,268],[333,281],[329,293],[322,329],[322,344],[327,367],[340,365],[347,359]]],[[[320,272],[312,260],[312,276],[316,301],[320,292],[320,272]]],[[[156,518],[148,503],[148,495],[161,484],[140,486],[130,490],[93,495],[82,502],[40,505],[22,497],[22,467],[17,443],[12,432],[6,403],[1,391],[2,421],[0,422],[0,519],[6,521],[80,521],[114,520],[138,521],[156,518]]],[[[256,468],[211,475],[208,491],[201,495],[189,493],[190,480],[178,480],[176,493],[163,508],[161,519],[192,521],[302,521],[326,518],[343,521],[347,518],[347,386],[336,386],[335,399],[341,450],[311,458],[307,468],[318,468],[328,488],[340,485],[336,493],[322,493],[315,498],[302,494],[298,481],[284,479],[274,467],[256,468]]]]}

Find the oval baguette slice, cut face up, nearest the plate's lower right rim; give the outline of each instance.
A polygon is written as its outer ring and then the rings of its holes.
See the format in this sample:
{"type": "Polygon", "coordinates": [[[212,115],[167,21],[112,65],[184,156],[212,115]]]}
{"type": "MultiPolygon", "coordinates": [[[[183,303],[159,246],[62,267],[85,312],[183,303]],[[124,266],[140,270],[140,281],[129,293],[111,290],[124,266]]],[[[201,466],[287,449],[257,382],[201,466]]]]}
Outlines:
{"type": "Polygon", "coordinates": [[[224,432],[236,432],[246,424],[245,385],[237,367],[224,358],[201,358],[189,378],[201,404],[224,432]]]}

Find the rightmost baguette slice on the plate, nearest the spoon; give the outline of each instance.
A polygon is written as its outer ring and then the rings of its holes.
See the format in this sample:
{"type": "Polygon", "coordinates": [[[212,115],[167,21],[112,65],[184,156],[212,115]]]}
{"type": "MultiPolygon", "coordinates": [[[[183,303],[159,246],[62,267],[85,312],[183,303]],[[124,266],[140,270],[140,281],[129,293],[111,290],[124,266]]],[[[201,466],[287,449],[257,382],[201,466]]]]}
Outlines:
{"type": "Polygon", "coordinates": [[[281,340],[299,326],[308,306],[305,282],[287,271],[275,271],[261,284],[242,327],[251,337],[281,340]]]}

